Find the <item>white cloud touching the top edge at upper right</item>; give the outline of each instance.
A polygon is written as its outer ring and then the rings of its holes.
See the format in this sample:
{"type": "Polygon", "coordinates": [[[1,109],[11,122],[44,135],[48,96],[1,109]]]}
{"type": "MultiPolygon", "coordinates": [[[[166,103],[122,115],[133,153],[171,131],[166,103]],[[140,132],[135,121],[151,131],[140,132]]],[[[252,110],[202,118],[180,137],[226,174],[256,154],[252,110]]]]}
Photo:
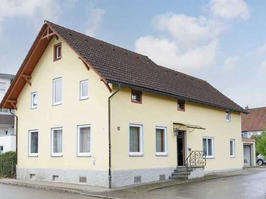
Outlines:
{"type": "Polygon", "coordinates": [[[223,19],[247,19],[249,7],[244,0],[211,0],[210,8],[215,16],[223,19]]]}

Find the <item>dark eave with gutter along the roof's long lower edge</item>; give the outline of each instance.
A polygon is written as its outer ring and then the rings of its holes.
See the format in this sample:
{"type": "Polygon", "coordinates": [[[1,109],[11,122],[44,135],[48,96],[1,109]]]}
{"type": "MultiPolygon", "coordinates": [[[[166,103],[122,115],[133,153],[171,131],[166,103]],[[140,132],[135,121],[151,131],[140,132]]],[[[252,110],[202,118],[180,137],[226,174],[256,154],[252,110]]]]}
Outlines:
{"type": "Polygon", "coordinates": [[[183,99],[183,100],[187,100],[187,101],[196,102],[196,103],[203,104],[203,105],[208,105],[208,106],[212,106],[212,107],[221,108],[221,109],[224,109],[224,110],[237,111],[237,112],[242,112],[242,113],[246,113],[246,114],[249,113],[248,111],[246,111],[244,109],[242,109],[242,110],[233,109],[233,108],[230,108],[230,107],[221,106],[221,105],[217,105],[217,104],[212,104],[212,103],[208,103],[208,102],[204,102],[204,101],[200,101],[200,100],[197,100],[197,99],[188,98],[188,97],[184,97],[184,96],[180,96],[180,95],[174,95],[174,94],[170,94],[170,93],[166,93],[166,92],[162,92],[162,91],[158,91],[158,90],[153,90],[153,89],[150,89],[150,88],[138,87],[138,86],[126,84],[126,83],[123,83],[123,82],[110,80],[108,78],[106,79],[106,81],[108,83],[111,83],[111,84],[120,84],[121,86],[134,88],[134,89],[140,89],[140,90],[143,90],[143,91],[153,92],[153,93],[156,93],[156,94],[162,94],[162,95],[166,95],[166,96],[169,96],[169,97],[174,97],[174,98],[178,98],[178,99],[183,99]]]}

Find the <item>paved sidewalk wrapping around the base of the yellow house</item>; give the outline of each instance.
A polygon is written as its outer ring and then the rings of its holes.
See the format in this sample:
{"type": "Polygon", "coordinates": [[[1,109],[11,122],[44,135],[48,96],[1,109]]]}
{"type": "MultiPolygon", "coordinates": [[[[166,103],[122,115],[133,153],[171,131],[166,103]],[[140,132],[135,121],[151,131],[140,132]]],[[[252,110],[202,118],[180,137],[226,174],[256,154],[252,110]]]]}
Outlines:
{"type": "Polygon", "coordinates": [[[65,192],[72,194],[81,194],[97,198],[119,199],[119,198],[124,198],[125,196],[129,198],[134,198],[133,196],[136,197],[138,194],[141,193],[145,194],[155,189],[169,187],[178,184],[198,182],[198,181],[216,179],[221,177],[248,175],[252,173],[254,173],[254,168],[252,170],[244,169],[244,170],[231,171],[231,172],[208,174],[205,175],[205,177],[196,178],[196,179],[164,180],[159,182],[142,183],[142,184],[122,187],[122,188],[114,188],[114,189],[108,189],[97,186],[79,185],[79,184],[67,184],[59,182],[46,182],[46,181],[37,181],[37,180],[22,180],[22,179],[9,179],[9,178],[0,178],[0,184],[14,185],[14,186],[21,186],[26,188],[35,188],[35,189],[42,189],[42,190],[56,191],[56,192],[65,192]]]}

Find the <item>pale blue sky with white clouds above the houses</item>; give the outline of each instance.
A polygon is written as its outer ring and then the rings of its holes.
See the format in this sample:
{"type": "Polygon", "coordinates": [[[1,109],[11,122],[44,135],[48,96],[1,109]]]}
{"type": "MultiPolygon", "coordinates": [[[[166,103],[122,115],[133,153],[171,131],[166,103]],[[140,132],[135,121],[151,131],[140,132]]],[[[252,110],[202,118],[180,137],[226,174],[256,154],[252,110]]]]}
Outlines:
{"type": "Polygon", "coordinates": [[[15,74],[45,19],[266,106],[266,1],[1,0],[0,73],[15,74]]]}

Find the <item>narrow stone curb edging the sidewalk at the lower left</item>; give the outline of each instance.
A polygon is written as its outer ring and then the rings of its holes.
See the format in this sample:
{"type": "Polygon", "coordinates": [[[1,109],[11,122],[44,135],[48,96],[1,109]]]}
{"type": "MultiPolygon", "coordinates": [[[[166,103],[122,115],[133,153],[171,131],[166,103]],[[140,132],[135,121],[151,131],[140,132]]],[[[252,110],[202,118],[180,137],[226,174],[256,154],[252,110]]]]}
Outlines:
{"type": "Polygon", "coordinates": [[[91,197],[102,198],[102,199],[121,199],[121,198],[115,198],[115,197],[109,197],[109,196],[90,194],[90,193],[86,193],[86,192],[78,191],[78,190],[73,190],[73,189],[49,187],[49,186],[34,185],[34,184],[19,183],[19,182],[0,181],[0,184],[12,185],[12,186],[18,186],[18,187],[24,187],[24,188],[40,189],[40,190],[53,191],[53,192],[59,192],[59,193],[79,194],[79,195],[91,196],[91,197]]]}

